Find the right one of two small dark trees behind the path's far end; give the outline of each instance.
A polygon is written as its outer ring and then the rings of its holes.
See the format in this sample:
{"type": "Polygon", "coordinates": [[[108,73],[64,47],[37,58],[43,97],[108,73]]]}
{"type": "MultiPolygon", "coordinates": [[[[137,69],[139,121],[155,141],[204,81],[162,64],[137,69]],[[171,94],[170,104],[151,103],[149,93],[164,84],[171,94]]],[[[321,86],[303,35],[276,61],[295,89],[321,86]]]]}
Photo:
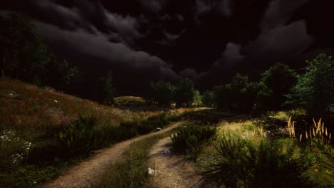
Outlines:
{"type": "Polygon", "coordinates": [[[178,107],[189,107],[194,102],[195,89],[193,81],[188,78],[178,83],[175,91],[175,101],[178,107]]]}

